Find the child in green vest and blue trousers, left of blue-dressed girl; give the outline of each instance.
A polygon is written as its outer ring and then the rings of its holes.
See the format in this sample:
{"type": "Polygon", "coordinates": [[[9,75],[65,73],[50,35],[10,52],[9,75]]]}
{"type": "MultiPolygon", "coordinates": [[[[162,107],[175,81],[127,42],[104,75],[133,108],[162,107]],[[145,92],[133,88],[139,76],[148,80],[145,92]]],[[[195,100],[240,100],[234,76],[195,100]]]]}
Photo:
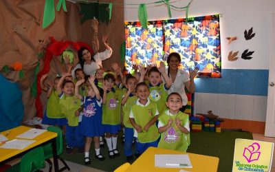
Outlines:
{"type": "Polygon", "coordinates": [[[80,100],[74,96],[74,82],[72,80],[65,80],[70,75],[69,73],[63,74],[61,80],[58,82],[59,105],[61,106],[61,113],[65,115],[68,121],[65,133],[67,153],[72,154],[74,147],[78,147],[78,153],[83,153],[84,138],[80,133],[78,118],[83,108],[81,108],[80,100]],[[63,82],[63,80],[65,81],[63,82]]]}

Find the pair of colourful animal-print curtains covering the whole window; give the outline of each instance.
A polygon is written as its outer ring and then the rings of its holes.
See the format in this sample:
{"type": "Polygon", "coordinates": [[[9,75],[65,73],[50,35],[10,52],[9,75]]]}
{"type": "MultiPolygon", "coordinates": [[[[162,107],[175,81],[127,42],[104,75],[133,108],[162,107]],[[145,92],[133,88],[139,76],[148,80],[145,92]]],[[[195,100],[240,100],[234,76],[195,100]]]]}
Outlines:
{"type": "Polygon", "coordinates": [[[166,59],[171,52],[181,55],[179,68],[199,68],[199,77],[221,77],[221,41],[219,15],[148,22],[126,23],[125,67],[151,64],[166,59]],[[164,54],[163,54],[164,52],[164,54]]]}

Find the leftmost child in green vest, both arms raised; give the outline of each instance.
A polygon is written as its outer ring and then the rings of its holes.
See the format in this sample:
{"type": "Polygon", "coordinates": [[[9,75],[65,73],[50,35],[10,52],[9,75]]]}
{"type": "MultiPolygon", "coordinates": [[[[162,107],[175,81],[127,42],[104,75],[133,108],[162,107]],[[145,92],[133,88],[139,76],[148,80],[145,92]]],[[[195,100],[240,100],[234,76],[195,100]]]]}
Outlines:
{"type": "Polygon", "coordinates": [[[48,83],[48,87],[45,86],[45,78],[47,74],[41,77],[41,89],[47,92],[47,109],[43,116],[42,124],[43,125],[57,125],[63,126],[63,131],[65,131],[65,125],[67,124],[67,119],[63,114],[61,114],[61,108],[59,104],[59,97],[56,91],[57,84],[61,79],[61,76],[56,76],[54,78],[54,83],[48,83]]]}

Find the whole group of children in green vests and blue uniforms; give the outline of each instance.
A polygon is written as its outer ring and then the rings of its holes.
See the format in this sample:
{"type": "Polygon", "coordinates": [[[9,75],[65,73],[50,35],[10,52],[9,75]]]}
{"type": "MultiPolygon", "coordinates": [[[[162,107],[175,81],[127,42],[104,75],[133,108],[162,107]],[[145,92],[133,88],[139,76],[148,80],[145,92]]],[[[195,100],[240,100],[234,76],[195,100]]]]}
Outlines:
{"type": "Polygon", "coordinates": [[[186,151],[190,144],[188,115],[179,111],[181,96],[167,94],[172,81],[164,64],[139,67],[135,76],[123,76],[117,64],[112,68],[113,72],[97,69],[90,76],[76,69],[76,78],[65,73],[48,84],[44,82],[46,75],[41,78],[41,88],[48,97],[43,124],[63,126],[67,153],[78,148],[78,153],[85,153],[85,164],[90,164],[94,140],[95,158],[104,160],[100,153],[100,136],[104,136],[109,158],[115,158],[120,155],[117,143],[121,127],[128,162],[133,161],[133,154],[138,157],[148,147],[186,151]]]}

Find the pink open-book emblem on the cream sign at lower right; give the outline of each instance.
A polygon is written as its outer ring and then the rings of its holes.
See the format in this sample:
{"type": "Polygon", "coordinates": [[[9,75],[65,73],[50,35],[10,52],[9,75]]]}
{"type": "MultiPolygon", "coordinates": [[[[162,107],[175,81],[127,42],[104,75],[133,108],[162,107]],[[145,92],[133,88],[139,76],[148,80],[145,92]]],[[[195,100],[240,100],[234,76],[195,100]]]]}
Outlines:
{"type": "Polygon", "coordinates": [[[257,142],[252,143],[250,146],[243,149],[243,157],[248,161],[248,163],[259,160],[261,152],[259,151],[260,144],[257,142]]]}

